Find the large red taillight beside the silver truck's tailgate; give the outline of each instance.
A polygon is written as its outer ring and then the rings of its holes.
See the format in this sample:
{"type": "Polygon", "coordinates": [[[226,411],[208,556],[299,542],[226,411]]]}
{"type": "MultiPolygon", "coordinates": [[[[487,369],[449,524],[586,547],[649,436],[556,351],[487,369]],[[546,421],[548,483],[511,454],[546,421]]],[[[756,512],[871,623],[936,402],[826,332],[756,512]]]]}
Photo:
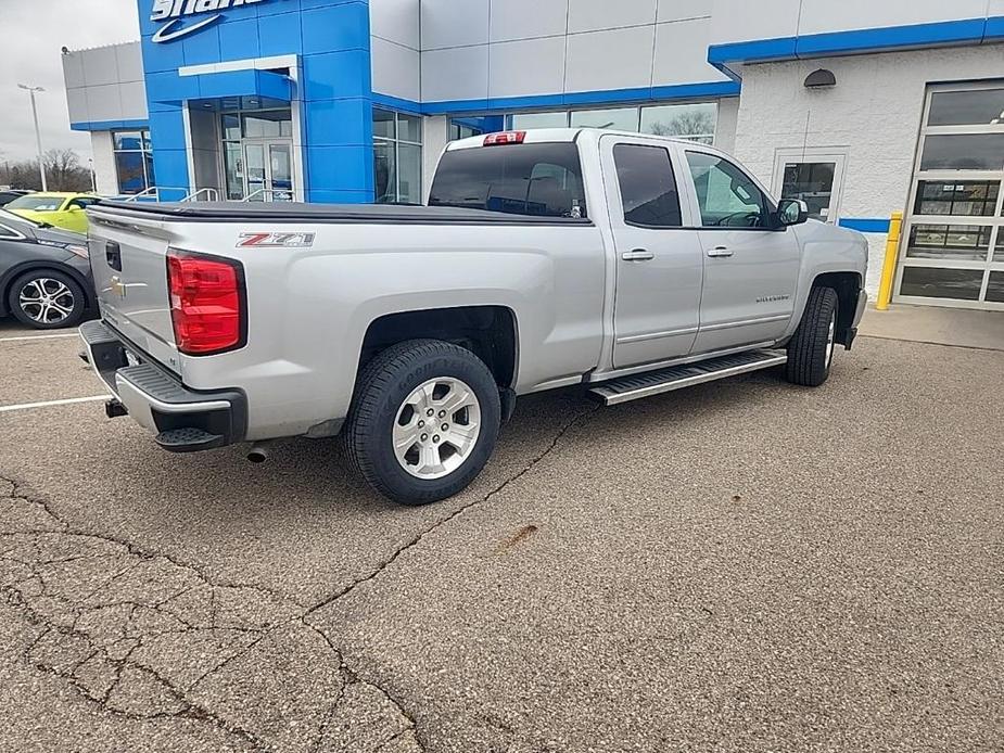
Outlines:
{"type": "Polygon", "coordinates": [[[244,275],[239,261],[170,248],[167,289],[178,350],[207,356],[244,344],[244,275]]]}

